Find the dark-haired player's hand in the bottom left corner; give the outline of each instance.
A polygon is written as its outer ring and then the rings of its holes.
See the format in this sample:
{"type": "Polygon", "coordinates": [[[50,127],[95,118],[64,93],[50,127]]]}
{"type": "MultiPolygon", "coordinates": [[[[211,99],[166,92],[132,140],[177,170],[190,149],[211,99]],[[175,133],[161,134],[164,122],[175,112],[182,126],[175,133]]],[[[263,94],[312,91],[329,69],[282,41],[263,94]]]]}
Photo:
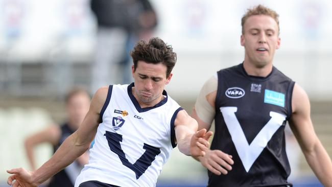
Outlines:
{"type": "Polygon", "coordinates": [[[8,177],[7,183],[14,187],[35,187],[38,184],[33,182],[33,172],[24,168],[15,168],[7,170],[7,173],[14,174],[8,177]],[[15,182],[13,182],[15,180],[15,182]]]}

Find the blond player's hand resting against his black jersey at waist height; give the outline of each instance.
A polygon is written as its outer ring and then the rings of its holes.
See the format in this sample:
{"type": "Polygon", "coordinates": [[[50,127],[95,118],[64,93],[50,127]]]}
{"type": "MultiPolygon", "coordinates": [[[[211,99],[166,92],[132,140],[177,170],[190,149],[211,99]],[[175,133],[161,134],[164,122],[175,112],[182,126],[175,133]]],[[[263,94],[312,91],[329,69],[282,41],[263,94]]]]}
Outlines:
{"type": "Polygon", "coordinates": [[[226,175],[228,171],[232,170],[231,165],[234,163],[232,155],[220,150],[206,150],[205,155],[198,159],[205,168],[216,175],[226,175]]]}

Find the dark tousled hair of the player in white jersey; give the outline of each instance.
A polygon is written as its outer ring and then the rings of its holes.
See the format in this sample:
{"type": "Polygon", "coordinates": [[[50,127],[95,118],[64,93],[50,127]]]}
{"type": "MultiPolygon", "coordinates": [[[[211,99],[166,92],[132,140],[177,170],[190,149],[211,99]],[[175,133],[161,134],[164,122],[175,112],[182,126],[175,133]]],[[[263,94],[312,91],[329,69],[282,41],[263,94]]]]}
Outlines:
{"type": "Polygon", "coordinates": [[[162,63],[167,67],[166,77],[169,77],[176,62],[176,53],[173,52],[172,46],[160,38],[151,38],[148,43],[144,40],[138,41],[130,55],[133,58],[134,71],[139,60],[153,64],[162,63]]]}

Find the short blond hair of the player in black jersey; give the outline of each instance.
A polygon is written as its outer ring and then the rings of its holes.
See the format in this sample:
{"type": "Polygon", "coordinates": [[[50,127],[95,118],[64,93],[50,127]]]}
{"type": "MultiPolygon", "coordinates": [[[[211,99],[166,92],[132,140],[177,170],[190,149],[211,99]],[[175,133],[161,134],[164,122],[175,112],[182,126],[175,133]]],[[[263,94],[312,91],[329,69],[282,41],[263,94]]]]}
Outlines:
{"type": "Polygon", "coordinates": [[[242,19],[241,19],[241,25],[242,25],[242,34],[244,34],[244,24],[246,22],[246,20],[253,15],[267,15],[272,17],[278,25],[278,33],[280,32],[280,28],[279,28],[279,14],[277,14],[277,12],[275,12],[272,9],[269,9],[263,5],[257,5],[251,9],[247,9],[247,12],[243,15],[242,19]]]}

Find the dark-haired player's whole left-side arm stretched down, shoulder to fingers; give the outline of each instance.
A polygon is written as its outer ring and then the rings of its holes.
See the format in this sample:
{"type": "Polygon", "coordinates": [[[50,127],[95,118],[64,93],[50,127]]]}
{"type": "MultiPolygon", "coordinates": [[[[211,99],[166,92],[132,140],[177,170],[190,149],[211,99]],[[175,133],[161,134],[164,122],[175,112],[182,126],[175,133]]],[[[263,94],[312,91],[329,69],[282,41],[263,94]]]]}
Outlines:
{"type": "Polygon", "coordinates": [[[100,88],[93,96],[90,109],[79,129],[68,136],[55,154],[35,172],[23,168],[8,170],[7,183],[13,186],[37,186],[68,166],[90,146],[99,125],[99,114],[107,97],[108,87],[100,88]],[[13,183],[13,180],[16,180],[13,183]]]}

